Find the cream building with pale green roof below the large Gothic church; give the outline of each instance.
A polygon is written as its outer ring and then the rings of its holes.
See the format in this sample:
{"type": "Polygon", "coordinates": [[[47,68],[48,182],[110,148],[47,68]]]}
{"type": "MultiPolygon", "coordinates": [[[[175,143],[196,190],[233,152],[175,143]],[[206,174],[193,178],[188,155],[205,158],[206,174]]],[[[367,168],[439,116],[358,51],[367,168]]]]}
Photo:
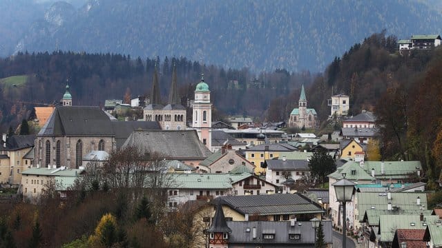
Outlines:
{"type": "Polygon", "coordinates": [[[31,203],[38,203],[44,189],[54,187],[66,197],[66,191],[73,186],[75,179],[84,172],[83,168],[68,169],[66,167],[32,167],[22,172],[21,190],[23,200],[29,200],[31,203]]]}

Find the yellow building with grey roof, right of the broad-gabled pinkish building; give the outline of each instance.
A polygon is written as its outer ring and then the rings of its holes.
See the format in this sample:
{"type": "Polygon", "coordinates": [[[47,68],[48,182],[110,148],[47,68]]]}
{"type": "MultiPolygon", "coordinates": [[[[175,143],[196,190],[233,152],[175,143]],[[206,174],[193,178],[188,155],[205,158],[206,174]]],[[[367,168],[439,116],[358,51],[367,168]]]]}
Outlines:
{"type": "Polygon", "coordinates": [[[280,152],[293,152],[296,147],[286,143],[256,145],[246,150],[246,159],[256,166],[255,174],[265,174],[264,162],[280,156],[280,152]]]}

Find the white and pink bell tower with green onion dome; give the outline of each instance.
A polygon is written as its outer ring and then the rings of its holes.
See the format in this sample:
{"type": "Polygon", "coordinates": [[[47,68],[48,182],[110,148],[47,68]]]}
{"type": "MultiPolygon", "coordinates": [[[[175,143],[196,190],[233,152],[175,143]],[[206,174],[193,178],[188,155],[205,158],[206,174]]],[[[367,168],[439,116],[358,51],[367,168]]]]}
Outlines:
{"type": "Polygon", "coordinates": [[[212,150],[212,104],[209,85],[204,83],[204,74],[201,74],[201,82],[195,89],[192,127],[197,131],[200,141],[212,150]]]}

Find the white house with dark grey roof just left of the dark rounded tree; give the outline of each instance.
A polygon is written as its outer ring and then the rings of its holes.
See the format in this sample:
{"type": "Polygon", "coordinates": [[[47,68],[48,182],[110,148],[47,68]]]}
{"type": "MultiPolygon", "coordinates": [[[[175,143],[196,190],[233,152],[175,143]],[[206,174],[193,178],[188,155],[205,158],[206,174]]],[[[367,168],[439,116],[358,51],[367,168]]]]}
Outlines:
{"type": "Polygon", "coordinates": [[[267,159],[265,161],[265,179],[282,188],[285,187],[286,180],[296,182],[302,176],[307,176],[309,172],[309,161],[307,160],[287,160],[282,157],[282,159],[267,159]]]}

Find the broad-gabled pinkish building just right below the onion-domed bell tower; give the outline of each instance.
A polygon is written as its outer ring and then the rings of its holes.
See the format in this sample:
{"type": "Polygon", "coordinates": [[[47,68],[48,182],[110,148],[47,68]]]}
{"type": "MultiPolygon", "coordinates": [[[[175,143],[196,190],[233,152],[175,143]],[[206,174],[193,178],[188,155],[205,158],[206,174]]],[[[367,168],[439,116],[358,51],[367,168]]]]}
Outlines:
{"type": "Polygon", "coordinates": [[[217,152],[208,156],[200,163],[200,169],[209,173],[229,173],[238,166],[245,166],[253,174],[256,165],[253,165],[243,156],[232,149],[230,145],[224,145],[217,152]]]}

